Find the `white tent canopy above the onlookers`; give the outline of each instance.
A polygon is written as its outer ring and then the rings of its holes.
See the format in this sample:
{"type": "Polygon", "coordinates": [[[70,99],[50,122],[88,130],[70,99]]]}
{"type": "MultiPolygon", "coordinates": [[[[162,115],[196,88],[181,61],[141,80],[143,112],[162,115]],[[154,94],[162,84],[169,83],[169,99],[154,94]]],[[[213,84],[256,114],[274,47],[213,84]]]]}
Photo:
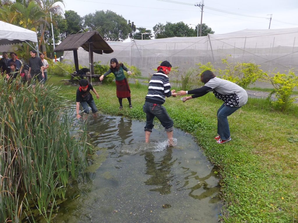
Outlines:
{"type": "Polygon", "coordinates": [[[34,31],[0,21],[0,45],[31,41],[37,43],[34,31]]]}

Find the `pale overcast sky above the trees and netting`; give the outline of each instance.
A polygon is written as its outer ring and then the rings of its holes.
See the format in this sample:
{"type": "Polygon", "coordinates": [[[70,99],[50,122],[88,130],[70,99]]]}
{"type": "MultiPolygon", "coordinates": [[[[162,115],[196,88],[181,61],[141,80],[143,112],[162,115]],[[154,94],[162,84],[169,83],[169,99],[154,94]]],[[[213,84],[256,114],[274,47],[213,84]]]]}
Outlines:
{"type": "MultiPolygon", "coordinates": [[[[134,22],[136,27],[153,28],[167,21],[186,24],[201,23],[201,9],[191,0],[64,0],[63,10],[74,10],[80,16],[100,10],[111,10],[134,22]],[[107,3],[108,2],[108,3],[107,3]],[[176,3],[175,3],[176,2],[176,3]],[[177,4],[179,3],[179,4],[177,4]]],[[[203,23],[215,34],[243,29],[270,29],[298,27],[298,0],[205,0],[203,23]],[[223,12],[225,11],[225,12],[223,12]],[[239,15],[241,14],[241,15],[239,15]],[[244,16],[246,15],[246,16],[244,16]]],[[[189,25],[195,28],[194,25],[189,25]]]]}

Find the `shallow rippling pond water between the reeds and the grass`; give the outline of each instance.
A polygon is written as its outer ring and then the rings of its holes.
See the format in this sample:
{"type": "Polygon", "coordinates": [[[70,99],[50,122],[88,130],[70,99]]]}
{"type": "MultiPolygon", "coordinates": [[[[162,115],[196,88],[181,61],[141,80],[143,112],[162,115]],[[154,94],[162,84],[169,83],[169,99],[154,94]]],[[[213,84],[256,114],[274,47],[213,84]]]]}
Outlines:
{"type": "Polygon", "coordinates": [[[168,147],[157,124],[145,143],[144,126],[89,116],[94,158],[69,187],[53,222],[217,222],[219,178],[195,141],[175,129],[178,144],[168,147]]]}

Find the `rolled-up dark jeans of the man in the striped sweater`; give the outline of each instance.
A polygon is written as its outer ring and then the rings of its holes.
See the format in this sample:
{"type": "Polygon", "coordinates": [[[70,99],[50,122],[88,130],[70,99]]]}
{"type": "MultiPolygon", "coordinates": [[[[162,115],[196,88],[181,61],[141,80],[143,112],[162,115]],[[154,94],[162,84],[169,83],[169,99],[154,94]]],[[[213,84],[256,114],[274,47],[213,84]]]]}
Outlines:
{"type": "Polygon", "coordinates": [[[145,102],[145,104],[143,105],[143,112],[146,113],[145,131],[152,132],[154,126],[154,117],[158,118],[165,131],[173,131],[173,120],[170,118],[164,106],[145,102]]]}

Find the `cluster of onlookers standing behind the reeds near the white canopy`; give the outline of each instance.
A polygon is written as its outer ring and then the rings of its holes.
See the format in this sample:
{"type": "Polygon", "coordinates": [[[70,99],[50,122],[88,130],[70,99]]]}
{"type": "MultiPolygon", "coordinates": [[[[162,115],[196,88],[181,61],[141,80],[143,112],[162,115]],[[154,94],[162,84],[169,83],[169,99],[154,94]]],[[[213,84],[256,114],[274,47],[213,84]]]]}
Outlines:
{"type": "MultiPolygon", "coordinates": [[[[46,69],[49,67],[49,63],[44,59],[45,55],[40,53],[40,57],[36,56],[37,51],[32,49],[30,51],[31,57],[29,58],[29,71],[28,78],[31,79],[33,91],[35,92],[36,79],[41,82],[43,87],[44,82],[47,79],[46,69]]],[[[5,75],[6,79],[16,78],[18,75],[24,77],[25,73],[22,71],[23,64],[21,60],[17,59],[17,54],[14,52],[10,53],[8,58],[7,52],[2,53],[3,57],[0,59],[1,75],[5,75]]]]}

